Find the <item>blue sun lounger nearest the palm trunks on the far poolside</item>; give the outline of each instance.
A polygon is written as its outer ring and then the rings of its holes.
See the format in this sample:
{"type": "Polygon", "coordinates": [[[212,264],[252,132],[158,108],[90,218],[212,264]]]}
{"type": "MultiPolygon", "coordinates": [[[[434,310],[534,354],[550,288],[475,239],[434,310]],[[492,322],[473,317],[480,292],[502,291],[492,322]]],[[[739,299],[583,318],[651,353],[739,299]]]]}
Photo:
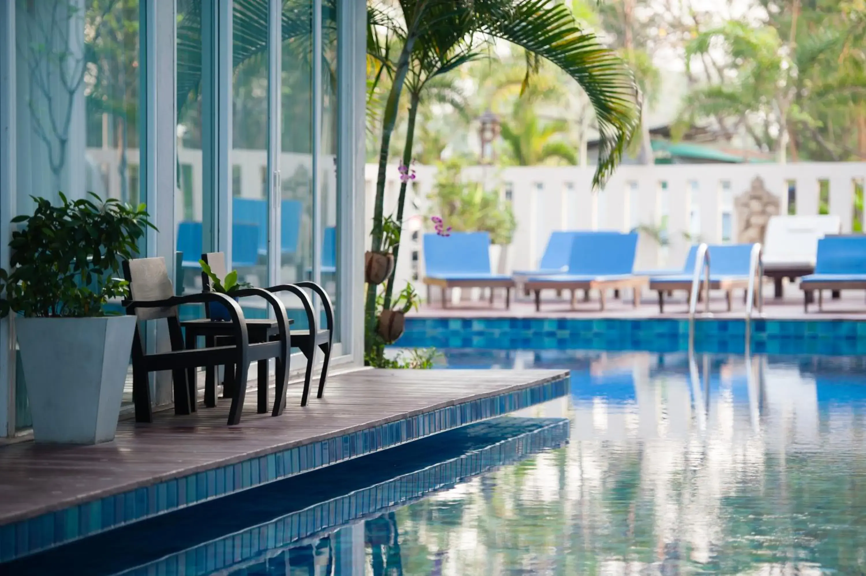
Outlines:
{"type": "Polygon", "coordinates": [[[490,235],[487,232],[452,232],[449,236],[424,234],[424,284],[430,302],[430,286],[442,290],[442,307],[448,306],[449,288],[505,288],[505,307],[511,304],[514,280],[490,272],[490,235]]]}

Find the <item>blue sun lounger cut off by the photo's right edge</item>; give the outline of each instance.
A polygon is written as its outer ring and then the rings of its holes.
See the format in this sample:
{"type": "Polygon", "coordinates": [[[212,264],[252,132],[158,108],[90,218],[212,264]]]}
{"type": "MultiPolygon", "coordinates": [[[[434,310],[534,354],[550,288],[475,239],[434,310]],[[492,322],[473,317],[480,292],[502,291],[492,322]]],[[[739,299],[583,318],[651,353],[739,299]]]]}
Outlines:
{"type": "Polygon", "coordinates": [[[818,290],[818,310],[824,306],[823,290],[866,288],[866,236],[824,236],[818,240],[815,274],[800,278],[803,309],[809,312],[811,294],[818,290]]]}

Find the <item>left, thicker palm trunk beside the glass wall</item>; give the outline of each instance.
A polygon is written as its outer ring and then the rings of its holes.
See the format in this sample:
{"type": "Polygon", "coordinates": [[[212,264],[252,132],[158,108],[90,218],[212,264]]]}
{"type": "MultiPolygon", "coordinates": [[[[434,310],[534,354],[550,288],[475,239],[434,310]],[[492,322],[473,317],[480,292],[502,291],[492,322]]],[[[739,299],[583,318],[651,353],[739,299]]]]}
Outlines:
{"type": "MultiPolygon", "coordinates": [[[[423,11],[423,9],[421,10],[423,11]]],[[[406,42],[403,45],[403,50],[400,52],[400,58],[397,60],[391,92],[388,94],[388,100],[385,102],[385,113],[382,120],[382,146],[379,147],[376,200],[373,210],[373,230],[371,233],[372,250],[374,252],[382,248],[382,219],[383,205],[385,203],[385,170],[388,167],[388,149],[391,146],[391,133],[394,132],[394,126],[397,124],[400,93],[403,91],[403,83],[406,80],[406,73],[409,71],[409,56],[412,53],[417,38],[417,19],[415,24],[416,26],[412,29],[411,33],[406,36],[406,42]]],[[[365,323],[368,327],[372,327],[376,321],[376,286],[373,284],[367,285],[367,300],[364,308],[365,323]]],[[[371,350],[371,346],[372,342],[365,342],[365,348],[368,353],[371,350]]]]}

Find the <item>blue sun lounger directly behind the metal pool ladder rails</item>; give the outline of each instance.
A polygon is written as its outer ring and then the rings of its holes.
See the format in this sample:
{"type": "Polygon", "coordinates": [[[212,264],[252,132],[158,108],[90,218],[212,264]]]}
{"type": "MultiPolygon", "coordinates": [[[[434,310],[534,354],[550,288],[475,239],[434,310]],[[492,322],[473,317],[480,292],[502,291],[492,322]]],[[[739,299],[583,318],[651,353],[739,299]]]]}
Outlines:
{"type": "MultiPolygon", "coordinates": [[[[753,246],[754,244],[719,244],[707,247],[709,252],[709,288],[711,290],[725,290],[728,312],[731,311],[734,290],[739,288],[747,290],[749,287],[753,246]]],[[[650,290],[658,292],[659,313],[664,312],[664,294],[674,290],[686,290],[688,292],[692,289],[696,257],[697,246],[692,246],[688,250],[682,273],[650,278],[650,290]]],[[[701,272],[701,284],[703,279],[704,275],[701,272]]],[[[759,279],[756,279],[756,286],[759,286],[758,281],[759,279]]]]}

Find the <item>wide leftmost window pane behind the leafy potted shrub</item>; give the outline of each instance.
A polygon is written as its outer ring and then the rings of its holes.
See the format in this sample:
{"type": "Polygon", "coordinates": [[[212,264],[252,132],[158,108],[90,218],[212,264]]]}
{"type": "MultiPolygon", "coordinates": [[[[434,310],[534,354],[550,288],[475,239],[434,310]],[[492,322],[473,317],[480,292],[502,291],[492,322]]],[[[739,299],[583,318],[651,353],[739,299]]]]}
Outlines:
{"type": "MultiPolygon", "coordinates": [[[[31,196],[58,203],[58,191],[143,200],[138,0],[18,0],[15,26],[18,213],[33,213],[31,196]]],[[[29,410],[20,362],[16,374],[23,427],[29,410]]]]}

